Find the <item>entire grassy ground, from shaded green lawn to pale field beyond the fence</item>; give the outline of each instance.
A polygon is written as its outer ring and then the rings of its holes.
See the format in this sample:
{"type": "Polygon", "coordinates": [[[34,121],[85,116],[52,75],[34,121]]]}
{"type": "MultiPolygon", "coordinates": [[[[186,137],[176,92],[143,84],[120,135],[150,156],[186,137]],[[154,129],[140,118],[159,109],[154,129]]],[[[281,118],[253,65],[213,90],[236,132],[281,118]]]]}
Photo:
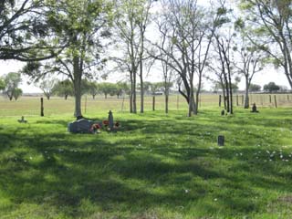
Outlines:
{"type": "Polygon", "coordinates": [[[208,97],[193,118],[181,97],[168,115],[162,97],[137,115],[88,97],[87,118],[121,124],[96,135],[68,133],[73,99],[45,99],[45,117],[39,98],[0,99],[0,218],[291,218],[292,108],[222,117],[208,97]]]}

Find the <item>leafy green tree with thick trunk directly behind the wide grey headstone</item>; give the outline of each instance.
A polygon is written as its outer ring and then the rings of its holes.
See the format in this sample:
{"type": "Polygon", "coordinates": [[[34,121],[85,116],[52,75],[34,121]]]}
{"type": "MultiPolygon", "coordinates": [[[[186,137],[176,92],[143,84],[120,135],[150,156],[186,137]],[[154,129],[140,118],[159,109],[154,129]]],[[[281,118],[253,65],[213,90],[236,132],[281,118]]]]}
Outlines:
{"type": "Polygon", "coordinates": [[[106,59],[100,54],[104,45],[101,38],[110,35],[110,4],[106,0],[48,0],[47,23],[54,26],[55,40],[67,42],[67,47],[50,62],[30,62],[24,69],[31,78],[47,74],[64,74],[73,83],[75,112],[81,113],[82,78],[94,78],[106,59]]]}

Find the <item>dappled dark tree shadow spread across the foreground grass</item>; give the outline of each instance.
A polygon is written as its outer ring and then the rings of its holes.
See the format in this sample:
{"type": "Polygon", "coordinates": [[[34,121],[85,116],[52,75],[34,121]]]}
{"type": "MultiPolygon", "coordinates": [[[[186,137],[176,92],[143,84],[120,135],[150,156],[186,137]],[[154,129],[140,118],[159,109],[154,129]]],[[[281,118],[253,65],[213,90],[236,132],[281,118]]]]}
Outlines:
{"type": "MultiPolygon", "coordinates": [[[[113,213],[141,213],[160,206],[165,211],[188,214],[193,204],[203,203],[201,210],[209,215],[222,209],[231,215],[253,214],[260,211],[261,203],[251,200],[264,195],[256,188],[292,192],[287,181],[290,175],[278,172],[273,163],[253,160],[255,156],[251,155],[259,151],[264,154],[264,149],[219,150],[200,144],[148,143],[155,141],[156,134],[180,136],[194,129],[213,129],[210,124],[198,127],[190,124],[190,128],[181,130],[179,122],[169,128],[172,123],[162,120],[156,125],[156,121],[128,120],[124,121],[120,135],[110,137],[105,133],[96,136],[1,133],[0,145],[9,145],[1,147],[0,174],[5,176],[0,178],[1,191],[16,206],[46,203],[59,211],[63,211],[61,207],[69,208],[71,213],[64,214],[76,218],[84,216],[79,211],[82,200],[89,200],[103,212],[113,213]],[[135,134],[137,130],[142,135],[127,140],[129,132],[135,134]],[[137,147],[134,141],[143,144],[137,147]],[[235,157],[235,153],[249,156],[235,157]],[[212,204],[205,197],[219,202],[212,204]]],[[[59,124],[66,123],[59,120],[59,124]]],[[[282,165],[287,167],[289,163],[282,165]]]]}

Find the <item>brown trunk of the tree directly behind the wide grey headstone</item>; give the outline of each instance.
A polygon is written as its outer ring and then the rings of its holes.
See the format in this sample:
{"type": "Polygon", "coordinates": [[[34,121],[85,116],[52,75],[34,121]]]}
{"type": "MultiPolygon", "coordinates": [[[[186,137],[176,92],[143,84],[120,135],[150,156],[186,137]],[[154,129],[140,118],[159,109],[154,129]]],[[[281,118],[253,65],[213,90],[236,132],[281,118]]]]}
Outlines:
{"type": "Polygon", "coordinates": [[[73,57],[73,74],[74,74],[74,94],[75,94],[75,112],[76,118],[82,118],[81,113],[81,72],[79,69],[79,58],[73,57]]]}

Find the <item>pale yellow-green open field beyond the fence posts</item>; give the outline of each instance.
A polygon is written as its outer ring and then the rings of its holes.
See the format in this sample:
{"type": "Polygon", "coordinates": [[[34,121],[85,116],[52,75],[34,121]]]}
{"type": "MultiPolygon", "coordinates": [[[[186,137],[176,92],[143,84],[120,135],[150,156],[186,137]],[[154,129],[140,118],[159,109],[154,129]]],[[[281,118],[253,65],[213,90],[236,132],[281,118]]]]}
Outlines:
{"type": "MultiPolygon", "coordinates": [[[[209,108],[218,107],[219,96],[215,94],[203,94],[200,96],[199,107],[209,108]]],[[[44,99],[45,114],[71,114],[74,110],[74,99],[69,97],[67,100],[52,97],[50,100],[44,99]]],[[[243,95],[234,96],[234,106],[242,107],[243,95]],[[238,103],[238,105],[237,105],[238,103]]],[[[260,109],[262,107],[275,108],[275,95],[268,94],[252,94],[250,95],[250,103],[256,103],[260,109]],[[270,98],[271,97],[271,98],[270,98]],[[270,102],[271,100],[271,102],[270,102]]],[[[277,94],[276,103],[278,107],[292,107],[292,94],[277,94]]],[[[140,99],[137,99],[137,108],[140,110],[140,99]]],[[[144,109],[152,110],[152,97],[145,97],[144,109]]],[[[187,110],[187,104],[185,99],[179,95],[170,96],[169,100],[170,110],[187,110]]],[[[128,112],[129,111],[129,99],[110,97],[105,99],[103,96],[98,96],[96,99],[92,99],[90,96],[83,96],[82,98],[82,111],[83,114],[92,114],[99,111],[113,110],[116,112],[128,112]]],[[[155,110],[164,110],[164,97],[155,97],[155,110]]],[[[4,97],[0,97],[0,116],[35,116],[40,113],[40,98],[39,97],[21,97],[17,101],[9,101],[4,97]]]]}

